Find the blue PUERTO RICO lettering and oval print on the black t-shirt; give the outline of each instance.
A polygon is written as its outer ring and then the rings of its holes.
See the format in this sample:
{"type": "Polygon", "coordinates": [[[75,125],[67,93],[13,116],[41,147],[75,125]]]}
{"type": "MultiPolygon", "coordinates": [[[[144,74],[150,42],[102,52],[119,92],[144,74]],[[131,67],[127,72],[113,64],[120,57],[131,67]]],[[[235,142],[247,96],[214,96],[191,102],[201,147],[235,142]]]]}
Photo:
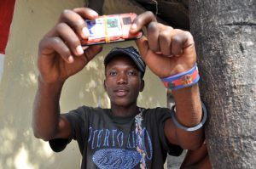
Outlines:
{"type": "Polygon", "coordinates": [[[118,129],[89,129],[88,145],[96,149],[92,161],[100,169],[131,169],[140,163],[140,168],[147,168],[146,160],[152,159],[151,138],[145,127],[142,127],[142,112],[135,117],[136,129],[128,135],[124,145],[124,132],[118,129]],[[147,142],[147,143],[144,143],[147,142]],[[149,145],[148,148],[146,145],[149,145]]]}

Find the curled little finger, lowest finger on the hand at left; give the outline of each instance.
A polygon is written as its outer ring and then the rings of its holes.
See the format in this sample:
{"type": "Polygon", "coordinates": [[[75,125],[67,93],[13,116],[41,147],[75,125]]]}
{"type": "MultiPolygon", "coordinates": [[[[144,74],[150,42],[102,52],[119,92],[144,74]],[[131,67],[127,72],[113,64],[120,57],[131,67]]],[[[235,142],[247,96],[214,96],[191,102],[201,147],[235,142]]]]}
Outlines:
{"type": "Polygon", "coordinates": [[[60,37],[44,37],[39,43],[39,55],[49,56],[54,53],[61,55],[67,63],[73,63],[73,56],[60,37]]]}

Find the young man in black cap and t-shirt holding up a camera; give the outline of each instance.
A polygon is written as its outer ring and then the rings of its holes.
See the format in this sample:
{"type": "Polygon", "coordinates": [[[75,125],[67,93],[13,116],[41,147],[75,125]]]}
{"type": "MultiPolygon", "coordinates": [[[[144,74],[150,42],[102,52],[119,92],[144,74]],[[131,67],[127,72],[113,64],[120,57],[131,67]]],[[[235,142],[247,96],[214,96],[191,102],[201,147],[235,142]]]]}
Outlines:
{"type": "Polygon", "coordinates": [[[83,155],[81,168],[163,168],[167,153],[198,149],[204,138],[198,126],[202,111],[193,37],[158,23],[150,12],[138,15],[131,25],[131,33],[144,26],[148,31],[147,37],[136,41],[140,54],[134,48],[114,48],[105,58],[104,87],[111,108],[82,106],[60,114],[64,82],[102,50],[96,45],[83,51],[79,41],[89,36],[84,19],[97,16],[90,8],[65,10],[41,40],[32,123],[35,136],[49,141],[55,151],[77,140],[83,155]],[[144,87],[143,61],[173,89],[175,113],[137,106],[144,87]]]}

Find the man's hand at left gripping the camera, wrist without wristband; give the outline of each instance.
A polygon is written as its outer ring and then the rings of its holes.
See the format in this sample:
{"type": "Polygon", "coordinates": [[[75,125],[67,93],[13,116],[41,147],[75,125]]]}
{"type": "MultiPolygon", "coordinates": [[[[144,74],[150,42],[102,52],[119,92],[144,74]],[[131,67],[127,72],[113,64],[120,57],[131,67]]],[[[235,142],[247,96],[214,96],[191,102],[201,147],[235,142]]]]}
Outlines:
{"type": "Polygon", "coordinates": [[[90,8],[75,8],[62,12],[57,24],[39,43],[38,70],[41,82],[65,82],[102,51],[102,46],[83,50],[79,39],[87,39],[85,19],[95,20],[98,14],[90,8]]]}

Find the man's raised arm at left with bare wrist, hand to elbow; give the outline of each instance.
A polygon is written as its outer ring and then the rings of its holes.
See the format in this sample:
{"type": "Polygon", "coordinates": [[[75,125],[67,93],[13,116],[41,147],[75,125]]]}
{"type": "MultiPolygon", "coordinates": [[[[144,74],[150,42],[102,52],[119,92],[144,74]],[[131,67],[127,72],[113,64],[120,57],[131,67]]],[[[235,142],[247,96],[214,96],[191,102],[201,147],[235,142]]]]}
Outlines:
{"type": "Polygon", "coordinates": [[[82,70],[102,50],[101,46],[83,50],[79,41],[89,37],[84,19],[97,16],[90,8],[65,10],[39,44],[38,92],[32,115],[37,138],[68,138],[71,134],[69,122],[60,115],[61,88],[69,76],[82,70]]]}

